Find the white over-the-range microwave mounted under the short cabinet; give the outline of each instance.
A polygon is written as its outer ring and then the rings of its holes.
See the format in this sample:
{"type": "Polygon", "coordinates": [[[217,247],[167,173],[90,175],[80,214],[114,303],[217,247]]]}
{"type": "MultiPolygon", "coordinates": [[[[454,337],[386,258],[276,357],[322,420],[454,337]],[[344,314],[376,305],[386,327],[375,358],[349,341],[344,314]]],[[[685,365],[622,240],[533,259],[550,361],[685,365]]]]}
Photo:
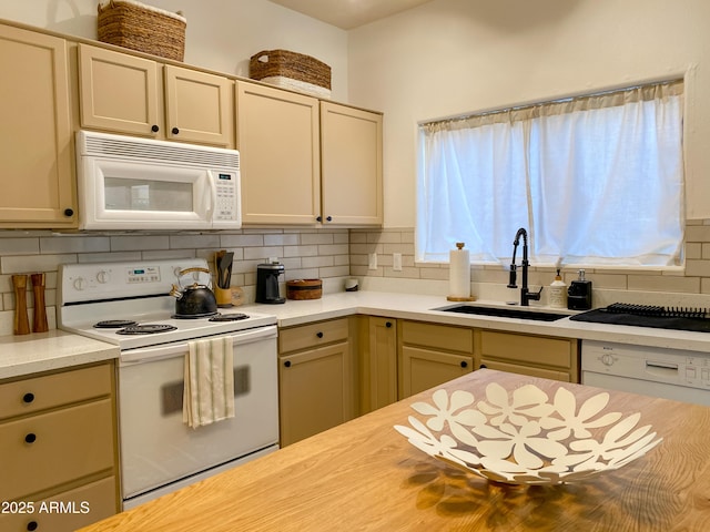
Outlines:
{"type": "Polygon", "coordinates": [[[239,229],[236,150],[77,132],[81,229],[239,229]]]}

